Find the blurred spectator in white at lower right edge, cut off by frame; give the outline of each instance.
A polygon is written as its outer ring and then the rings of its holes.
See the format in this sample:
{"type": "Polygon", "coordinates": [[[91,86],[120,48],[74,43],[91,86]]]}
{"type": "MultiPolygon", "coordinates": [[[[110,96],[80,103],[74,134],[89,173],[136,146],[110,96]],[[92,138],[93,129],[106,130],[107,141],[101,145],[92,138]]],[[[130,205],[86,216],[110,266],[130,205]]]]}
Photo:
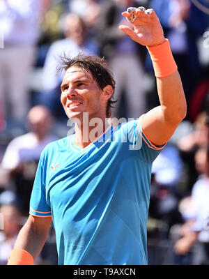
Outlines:
{"type": "MultiPolygon", "coordinates": [[[[209,178],[207,148],[200,147],[195,153],[196,169],[199,179],[192,188],[189,206],[183,211],[185,224],[180,228],[180,239],[176,242],[175,251],[178,255],[186,255],[194,243],[199,241],[204,248],[205,258],[199,264],[209,263],[209,178]]],[[[196,256],[196,255],[195,255],[196,256]]]]}

